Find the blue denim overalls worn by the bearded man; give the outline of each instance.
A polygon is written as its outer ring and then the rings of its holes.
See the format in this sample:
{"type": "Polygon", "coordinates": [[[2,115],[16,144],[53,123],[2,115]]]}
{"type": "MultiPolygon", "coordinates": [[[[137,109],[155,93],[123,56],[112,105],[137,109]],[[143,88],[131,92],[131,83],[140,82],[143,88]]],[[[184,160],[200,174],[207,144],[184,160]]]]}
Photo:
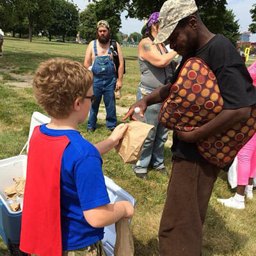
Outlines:
{"type": "Polygon", "coordinates": [[[100,100],[103,100],[106,108],[106,125],[108,129],[116,127],[116,72],[113,60],[110,57],[111,50],[109,48],[108,55],[98,56],[96,40],[93,42],[94,54],[96,56],[93,66],[93,94],[97,96],[97,100],[92,103],[90,116],[88,119],[88,128],[96,128],[97,115],[99,111],[100,100]]]}

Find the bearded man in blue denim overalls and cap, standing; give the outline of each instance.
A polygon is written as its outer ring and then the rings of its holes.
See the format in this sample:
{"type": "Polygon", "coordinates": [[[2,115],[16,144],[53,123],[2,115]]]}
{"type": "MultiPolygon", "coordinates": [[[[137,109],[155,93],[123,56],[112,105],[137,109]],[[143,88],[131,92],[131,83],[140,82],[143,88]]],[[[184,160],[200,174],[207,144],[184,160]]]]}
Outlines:
{"type": "Polygon", "coordinates": [[[111,29],[106,20],[98,22],[96,34],[97,40],[90,42],[84,56],[84,67],[89,68],[92,63],[93,94],[97,96],[97,100],[92,103],[90,109],[87,131],[93,132],[97,128],[97,115],[102,95],[107,114],[106,126],[110,131],[113,131],[116,127],[115,90],[122,87],[124,59],[121,47],[116,42],[120,62],[118,79],[116,79],[116,67],[113,61],[113,52],[110,48],[111,29]]]}

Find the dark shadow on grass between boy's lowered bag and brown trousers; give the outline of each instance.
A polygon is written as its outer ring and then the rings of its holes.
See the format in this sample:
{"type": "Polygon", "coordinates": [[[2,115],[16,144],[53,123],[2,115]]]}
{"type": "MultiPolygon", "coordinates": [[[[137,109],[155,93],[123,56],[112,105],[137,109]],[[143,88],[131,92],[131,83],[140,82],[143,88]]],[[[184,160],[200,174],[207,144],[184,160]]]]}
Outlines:
{"type": "Polygon", "coordinates": [[[133,237],[134,241],[134,256],[157,256],[159,255],[158,240],[152,238],[147,244],[143,244],[136,237],[133,237]]]}

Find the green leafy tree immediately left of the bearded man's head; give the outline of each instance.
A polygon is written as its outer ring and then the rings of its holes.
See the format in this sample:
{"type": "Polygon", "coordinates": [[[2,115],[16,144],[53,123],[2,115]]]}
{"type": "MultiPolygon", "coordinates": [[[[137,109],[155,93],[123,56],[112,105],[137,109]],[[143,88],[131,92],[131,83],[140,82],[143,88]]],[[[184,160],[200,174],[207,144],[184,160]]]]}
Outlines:
{"type": "Polygon", "coordinates": [[[90,3],[83,12],[80,13],[79,35],[88,41],[95,38],[97,18],[95,15],[95,4],[90,3]]]}

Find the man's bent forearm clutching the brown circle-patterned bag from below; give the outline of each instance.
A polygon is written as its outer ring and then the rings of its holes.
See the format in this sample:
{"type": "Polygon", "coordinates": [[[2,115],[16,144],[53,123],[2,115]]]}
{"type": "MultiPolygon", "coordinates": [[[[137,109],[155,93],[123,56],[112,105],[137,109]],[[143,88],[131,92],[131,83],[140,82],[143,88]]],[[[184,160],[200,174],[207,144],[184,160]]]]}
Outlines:
{"type": "Polygon", "coordinates": [[[214,134],[226,131],[237,122],[244,122],[250,117],[251,108],[223,109],[219,115],[191,132],[177,131],[178,138],[186,142],[196,142],[202,138],[208,138],[214,134]]]}

